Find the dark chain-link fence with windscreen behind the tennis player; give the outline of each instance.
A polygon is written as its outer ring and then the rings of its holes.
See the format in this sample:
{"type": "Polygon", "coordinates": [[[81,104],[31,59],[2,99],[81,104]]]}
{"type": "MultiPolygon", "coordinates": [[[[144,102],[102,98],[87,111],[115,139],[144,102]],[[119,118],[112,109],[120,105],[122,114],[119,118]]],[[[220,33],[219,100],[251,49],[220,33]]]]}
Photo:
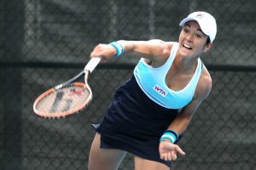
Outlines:
{"type": "MultiPolygon", "coordinates": [[[[34,99],[79,73],[100,42],[177,41],[179,21],[195,10],[218,23],[214,47],[201,56],[213,87],[180,141],[187,155],[172,169],[255,169],[255,6],[254,0],[1,0],[0,169],[87,169],[90,123],[101,122],[141,56],[98,65],[90,77],[94,100],[77,115],[38,117],[34,99]]],[[[130,154],[119,169],[133,169],[130,154]]]]}

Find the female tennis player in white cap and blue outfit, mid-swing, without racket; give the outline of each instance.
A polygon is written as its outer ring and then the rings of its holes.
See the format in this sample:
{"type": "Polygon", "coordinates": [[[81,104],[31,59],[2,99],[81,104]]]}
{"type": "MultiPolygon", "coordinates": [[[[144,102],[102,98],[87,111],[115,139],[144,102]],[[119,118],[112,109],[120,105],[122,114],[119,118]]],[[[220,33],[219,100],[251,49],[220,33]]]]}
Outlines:
{"type": "Polygon", "coordinates": [[[161,40],[99,44],[90,57],[111,59],[123,53],[142,56],[133,76],[114,94],[89,156],[89,170],[118,169],[126,152],[136,170],[165,170],[178,155],[177,145],[195,111],[207,98],[212,79],[200,56],[212,48],[217,25],[211,14],[183,19],[178,42],[161,40]]]}

